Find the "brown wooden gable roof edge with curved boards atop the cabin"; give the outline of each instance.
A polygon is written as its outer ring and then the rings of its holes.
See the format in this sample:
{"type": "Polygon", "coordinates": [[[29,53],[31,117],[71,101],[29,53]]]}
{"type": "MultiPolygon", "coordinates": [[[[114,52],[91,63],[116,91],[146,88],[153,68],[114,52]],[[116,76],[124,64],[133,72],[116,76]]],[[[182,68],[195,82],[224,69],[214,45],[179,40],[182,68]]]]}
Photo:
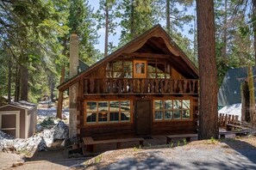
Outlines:
{"type": "Polygon", "coordinates": [[[120,55],[136,52],[138,50],[143,52],[145,50],[143,50],[142,47],[147,50],[148,41],[150,41],[149,44],[153,44],[154,46],[160,48],[163,53],[170,55],[170,60],[178,65],[174,69],[178,70],[179,72],[186,72],[187,76],[191,79],[198,79],[199,74],[197,67],[190,61],[190,58],[188,58],[184,52],[182,52],[168,33],[166,33],[165,30],[158,24],[147,30],[145,33],[140,34],[139,37],[131,40],[125,46],[122,46],[115,52],[112,52],[109,54],[109,56],[99,60],[96,64],[91,65],[91,67],[87,68],[87,70],[84,70],[78,75],[73,76],[68,81],[63,82],[57,88],[59,91],[66,90],[66,88],[69,88],[84,76],[91,74],[94,70],[97,70],[97,68],[103,66],[104,64],[108,64],[109,61],[118,58],[120,55]],[[159,43],[159,39],[161,39],[161,43],[159,43]]]}

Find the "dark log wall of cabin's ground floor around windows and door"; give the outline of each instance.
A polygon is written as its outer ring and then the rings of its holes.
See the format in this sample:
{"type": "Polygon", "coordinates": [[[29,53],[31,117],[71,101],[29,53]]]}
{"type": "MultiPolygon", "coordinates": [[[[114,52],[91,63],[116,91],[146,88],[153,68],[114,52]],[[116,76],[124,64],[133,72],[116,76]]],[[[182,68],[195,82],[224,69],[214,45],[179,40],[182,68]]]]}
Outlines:
{"type": "MultiPolygon", "coordinates": [[[[94,137],[96,139],[110,139],[112,137],[134,137],[137,136],[136,126],[136,111],[135,104],[138,100],[190,100],[190,119],[187,120],[170,120],[170,121],[155,121],[153,120],[153,112],[151,112],[151,131],[145,135],[171,135],[197,133],[197,113],[198,101],[197,96],[174,96],[174,95],[109,95],[109,96],[84,96],[84,100],[131,100],[131,121],[124,123],[103,123],[103,124],[84,124],[84,109],[81,112],[81,123],[78,125],[80,130],[79,137],[94,137]]],[[[151,108],[153,109],[153,108],[151,108]]],[[[139,135],[141,136],[141,135],[139,135]]]]}

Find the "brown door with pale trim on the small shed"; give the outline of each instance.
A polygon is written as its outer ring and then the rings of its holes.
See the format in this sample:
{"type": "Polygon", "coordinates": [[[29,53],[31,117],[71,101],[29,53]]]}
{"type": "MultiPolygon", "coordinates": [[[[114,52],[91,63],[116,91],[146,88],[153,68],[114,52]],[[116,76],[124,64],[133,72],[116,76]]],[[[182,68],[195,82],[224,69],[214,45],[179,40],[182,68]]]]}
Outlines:
{"type": "Polygon", "coordinates": [[[14,137],[19,137],[20,114],[16,112],[0,112],[0,130],[14,137]]]}

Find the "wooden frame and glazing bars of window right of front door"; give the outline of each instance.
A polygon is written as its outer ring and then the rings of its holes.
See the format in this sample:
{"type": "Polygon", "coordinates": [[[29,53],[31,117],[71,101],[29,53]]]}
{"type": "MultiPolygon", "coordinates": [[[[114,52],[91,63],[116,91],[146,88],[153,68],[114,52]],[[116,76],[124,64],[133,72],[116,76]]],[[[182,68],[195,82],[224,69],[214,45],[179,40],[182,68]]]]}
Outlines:
{"type": "Polygon", "coordinates": [[[193,109],[192,109],[192,100],[191,99],[153,99],[153,122],[176,122],[176,121],[192,121],[193,120],[193,109]],[[161,100],[163,102],[162,109],[155,109],[155,100],[161,100]],[[165,100],[172,100],[172,108],[171,109],[165,109],[165,100]],[[175,109],[173,106],[174,100],[181,100],[181,108],[175,109]],[[184,109],[183,108],[183,100],[190,100],[190,109],[184,109]],[[174,111],[181,111],[180,118],[175,119],[174,118],[174,111]],[[183,118],[183,111],[190,111],[190,118],[183,118]],[[155,119],[155,112],[161,111],[162,112],[162,119],[155,119]],[[172,111],[172,118],[167,119],[165,118],[165,111],[172,111]]]}

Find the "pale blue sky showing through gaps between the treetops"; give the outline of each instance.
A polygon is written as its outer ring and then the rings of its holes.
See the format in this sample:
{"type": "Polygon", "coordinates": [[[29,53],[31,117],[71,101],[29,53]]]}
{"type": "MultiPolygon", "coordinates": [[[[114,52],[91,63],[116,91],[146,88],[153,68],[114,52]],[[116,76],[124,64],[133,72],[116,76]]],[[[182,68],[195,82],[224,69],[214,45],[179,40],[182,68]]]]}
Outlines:
{"type": "MultiPolygon", "coordinates": [[[[88,2],[89,2],[89,4],[91,4],[91,7],[94,9],[94,11],[97,11],[97,9],[99,9],[99,0],[88,0],[88,2]]],[[[195,7],[190,8],[188,10],[188,13],[191,14],[191,15],[194,15],[194,10],[193,10],[194,8],[195,7]]],[[[160,24],[162,26],[165,26],[165,23],[160,23],[160,24]]],[[[194,35],[188,33],[189,29],[190,29],[190,27],[184,27],[184,31],[180,30],[180,32],[184,33],[184,35],[186,35],[190,40],[193,41],[194,35]]],[[[109,42],[113,42],[114,46],[117,46],[118,43],[119,43],[119,38],[120,38],[120,35],[121,35],[121,31],[122,31],[121,27],[116,27],[116,35],[115,36],[113,36],[113,35],[109,36],[109,42]]],[[[100,38],[98,39],[99,44],[97,44],[95,47],[97,49],[99,49],[101,52],[104,52],[104,36],[105,36],[105,29],[104,29],[104,27],[100,28],[98,30],[98,34],[100,35],[100,38]]]]}

